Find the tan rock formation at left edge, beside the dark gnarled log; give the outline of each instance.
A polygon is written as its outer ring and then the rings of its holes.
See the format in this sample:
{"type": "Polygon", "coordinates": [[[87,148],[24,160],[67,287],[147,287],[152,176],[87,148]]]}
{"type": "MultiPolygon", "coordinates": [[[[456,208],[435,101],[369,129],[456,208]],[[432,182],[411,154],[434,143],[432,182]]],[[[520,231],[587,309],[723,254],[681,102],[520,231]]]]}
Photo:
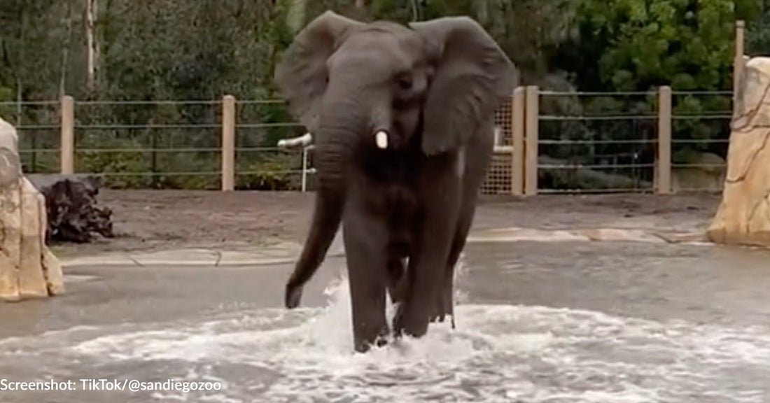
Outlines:
{"type": "Polygon", "coordinates": [[[45,198],[22,173],[16,129],[0,118],[0,299],[64,291],[62,266],[45,245],[45,198]]]}

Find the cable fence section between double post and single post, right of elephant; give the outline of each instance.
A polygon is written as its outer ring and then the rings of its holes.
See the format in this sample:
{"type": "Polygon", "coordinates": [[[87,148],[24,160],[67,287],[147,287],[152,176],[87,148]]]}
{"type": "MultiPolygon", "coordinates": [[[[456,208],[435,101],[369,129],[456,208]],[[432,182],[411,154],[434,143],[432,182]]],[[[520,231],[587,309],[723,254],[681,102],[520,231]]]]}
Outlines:
{"type": "Polygon", "coordinates": [[[656,97],[541,92],[538,192],[653,192],[656,97]]]}

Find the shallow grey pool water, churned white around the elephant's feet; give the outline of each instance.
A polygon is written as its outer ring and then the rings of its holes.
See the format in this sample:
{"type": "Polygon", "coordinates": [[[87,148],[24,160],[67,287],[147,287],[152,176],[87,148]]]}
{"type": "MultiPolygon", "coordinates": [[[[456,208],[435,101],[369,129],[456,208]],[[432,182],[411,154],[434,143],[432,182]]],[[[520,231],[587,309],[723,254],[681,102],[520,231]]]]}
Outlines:
{"type": "Polygon", "coordinates": [[[281,308],[290,265],[70,268],[67,295],[0,308],[0,401],[770,401],[768,261],[711,245],[474,243],[457,330],[367,355],[352,352],[343,258],[296,311],[281,308]],[[80,381],[99,378],[160,390],[80,381]]]}

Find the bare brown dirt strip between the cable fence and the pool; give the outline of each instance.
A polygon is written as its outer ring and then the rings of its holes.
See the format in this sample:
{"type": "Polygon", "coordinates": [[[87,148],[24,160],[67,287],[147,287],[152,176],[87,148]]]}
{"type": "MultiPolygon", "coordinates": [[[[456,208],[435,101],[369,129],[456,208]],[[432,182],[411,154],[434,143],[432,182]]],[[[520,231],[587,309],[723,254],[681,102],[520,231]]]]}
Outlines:
{"type": "MultiPolygon", "coordinates": [[[[102,189],[116,237],[86,245],[54,245],[59,253],[264,245],[303,241],[313,193],[196,192],[102,189]]],[[[705,228],[720,195],[484,196],[474,229],[481,228],[705,228]]]]}

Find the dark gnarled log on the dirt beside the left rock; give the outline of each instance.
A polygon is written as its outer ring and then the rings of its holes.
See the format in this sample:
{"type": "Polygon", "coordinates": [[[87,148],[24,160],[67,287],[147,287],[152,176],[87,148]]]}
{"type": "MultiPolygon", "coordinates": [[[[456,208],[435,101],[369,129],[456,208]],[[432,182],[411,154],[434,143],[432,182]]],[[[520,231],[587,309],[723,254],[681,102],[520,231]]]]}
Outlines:
{"type": "Polygon", "coordinates": [[[112,210],[98,205],[99,178],[91,175],[27,175],[45,196],[46,241],[86,243],[113,238],[112,210]]]}

